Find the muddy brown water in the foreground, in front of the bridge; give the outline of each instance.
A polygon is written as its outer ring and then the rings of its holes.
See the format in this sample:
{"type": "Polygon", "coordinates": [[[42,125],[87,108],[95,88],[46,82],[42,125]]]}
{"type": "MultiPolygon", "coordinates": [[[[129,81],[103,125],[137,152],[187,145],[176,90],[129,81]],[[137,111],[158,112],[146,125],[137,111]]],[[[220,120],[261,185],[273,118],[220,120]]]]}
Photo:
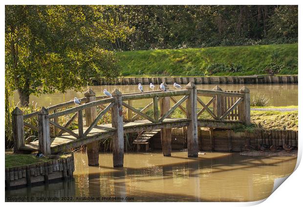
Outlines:
{"type": "Polygon", "coordinates": [[[187,152],[175,151],[172,157],[161,152],[127,153],[124,168],[113,168],[110,153],[99,155],[99,167],[88,167],[87,155],[75,153],[73,180],[6,190],[5,200],[25,196],[33,201],[39,197],[58,197],[60,201],[84,197],[100,201],[123,197],[135,202],[257,201],[271,194],[276,178],[293,172],[296,161],[297,157],[258,158],[219,152],[191,159],[187,152]]]}

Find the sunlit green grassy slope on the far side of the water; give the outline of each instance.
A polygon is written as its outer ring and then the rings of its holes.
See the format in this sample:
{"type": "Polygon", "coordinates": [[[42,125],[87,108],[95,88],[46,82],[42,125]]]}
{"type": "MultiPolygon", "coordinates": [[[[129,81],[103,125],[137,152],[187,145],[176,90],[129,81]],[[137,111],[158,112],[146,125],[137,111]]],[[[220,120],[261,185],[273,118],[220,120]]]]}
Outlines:
{"type": "Polygon", "coordinates": [[[133,77],[298,74],[298,43],[126,51],[117,58],[122,75],[133,77]]]}

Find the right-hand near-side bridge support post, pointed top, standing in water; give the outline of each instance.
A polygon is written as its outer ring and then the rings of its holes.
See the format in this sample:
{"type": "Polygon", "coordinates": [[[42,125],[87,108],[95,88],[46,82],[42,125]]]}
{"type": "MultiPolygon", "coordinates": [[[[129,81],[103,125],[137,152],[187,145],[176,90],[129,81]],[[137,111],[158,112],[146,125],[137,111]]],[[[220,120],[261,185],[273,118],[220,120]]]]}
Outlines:
{"type": "Polygon", "coordinates": [[[186,89],[190,91],[186,102],[187,118],[190,123],[187,127],[187,150],[188,157],[198,157],[198,120],[197,120],[197,90],[195,84],[190,82],[186,85],[186,89]]]}

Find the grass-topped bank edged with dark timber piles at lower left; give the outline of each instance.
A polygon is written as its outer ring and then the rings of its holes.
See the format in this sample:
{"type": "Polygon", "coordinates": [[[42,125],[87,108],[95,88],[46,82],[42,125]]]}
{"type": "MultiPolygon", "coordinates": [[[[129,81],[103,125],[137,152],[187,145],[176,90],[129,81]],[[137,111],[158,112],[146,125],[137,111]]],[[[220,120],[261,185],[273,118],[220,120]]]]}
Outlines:
{"type": "Polygon", "coordinates": [[[41,158],[35,154],[5,153],[5,188],[70,179],[74,170],[73,153],[41,158]]]}

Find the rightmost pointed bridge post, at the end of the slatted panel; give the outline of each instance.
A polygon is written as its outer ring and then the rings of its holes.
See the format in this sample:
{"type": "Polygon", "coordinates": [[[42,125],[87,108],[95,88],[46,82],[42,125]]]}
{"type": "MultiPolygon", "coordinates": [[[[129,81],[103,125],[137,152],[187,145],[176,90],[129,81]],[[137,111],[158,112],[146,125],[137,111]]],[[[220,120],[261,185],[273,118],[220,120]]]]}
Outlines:
{"type": "Polygon", "coordinates": [[[240,93],[244,94],[244,99],[241,104],[241,113],[240,113],[240,121],[242,121],[244,124],[249,125],[250,124],[250,91],[246,86],[243,86],[240,91],[240,93]]]}

